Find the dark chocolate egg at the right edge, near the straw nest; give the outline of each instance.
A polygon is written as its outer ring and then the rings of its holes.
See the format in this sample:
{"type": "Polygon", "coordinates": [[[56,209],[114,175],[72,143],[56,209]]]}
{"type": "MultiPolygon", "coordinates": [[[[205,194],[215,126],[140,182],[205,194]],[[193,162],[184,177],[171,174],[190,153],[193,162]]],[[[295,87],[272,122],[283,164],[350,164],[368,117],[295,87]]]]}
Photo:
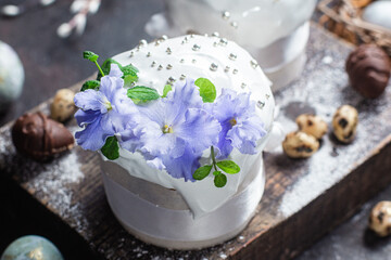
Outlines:
{"type": "Polygon", "coordinates": [[[346,73],[352,88],[368,99],[376,99],[384,91],[390,70],[389,56],[374,44],[360,46],[346,61],[346,73]]]}

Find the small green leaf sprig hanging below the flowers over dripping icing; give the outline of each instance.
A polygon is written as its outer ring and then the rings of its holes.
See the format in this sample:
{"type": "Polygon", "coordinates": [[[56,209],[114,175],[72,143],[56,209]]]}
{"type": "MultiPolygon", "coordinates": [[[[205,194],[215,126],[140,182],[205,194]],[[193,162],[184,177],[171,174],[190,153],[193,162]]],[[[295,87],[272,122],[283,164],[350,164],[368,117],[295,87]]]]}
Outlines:
{"type": "Polygon", "coordinates": [[[212,157],[212,165],[204,165],[198,168],[193,173],[193,178],[194,180],[201,181],[211,173],[211,170],[213,168],[215,186],[224,187],[227,184],[227,177],[223,172],[228,174],[236,174],[240,172],[240,167],[237,164],[235,164],[232,160],[216,161],[213,146],[211,146],[211,157],[212,157]]]}

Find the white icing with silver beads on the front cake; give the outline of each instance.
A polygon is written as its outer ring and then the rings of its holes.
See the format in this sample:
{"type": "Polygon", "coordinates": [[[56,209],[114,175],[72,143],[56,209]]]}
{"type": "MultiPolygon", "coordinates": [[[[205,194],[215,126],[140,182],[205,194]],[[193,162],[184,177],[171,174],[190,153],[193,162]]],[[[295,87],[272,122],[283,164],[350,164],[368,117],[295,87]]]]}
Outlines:
{"type": "MultiPolygon", "coordinates": [[[[188,39],[186,43],[182,43],[185,37],[178,37],[164,40],[159,44],[155,42],[141,44],[139,48],[118,54],[113,58],[122,65],[131,63],[139,69],[137,84],[155,88],[160,93],[163,92],[163,88],[171,77],[180,80],[181,75],[193,79],[200,77],[210,79],[216,87],[217,96],[220,94],[222,88],[230,88],[238,93],[251,92],[252,100],[264,104],[256,107],[256,113],[269,131],[273,127],[275,107],[270,82],[258,66],[254,67],[251,64],[251,55],[231,41],[227,41],[227,44],[218,43],[216,46],[215,42],[220,41],[217,37],[186,36],[186,38],[188,39]],[[200,48],[194,49],[194,44],[200,48]],[[236,55],[236,58],[230,58],[230,54],[236,55]],[[212,63],[217,65],[216,70],[211,69],[212,63]],[[162,68],[159,69],[159,66],[162,68]],[[171,68],[167,69],[167,66],[171,68]],[[226,66],[230,67],[229,72],[225,72],[226,66]],[[237,69],[237,73],[234,74],[234,69],[237,69]]],[[[260,153],[266,141],[265,136],[258,142],[260,153]]],[[[234,150],[230,158],[240,166],[241,172],[228,174],[227,185],[217,188],[214,186],[213,177],[197,182],[185,182],[182,179],[172,178],[165,171],[149,167],[139,153],[131,154],[121,150],[119,155],[114,162],[125,168],[129,174],[167,188],[177,190],[195,217],[217,209],[236,194],[249,174],[249,169],[260,157],[260,154],[242,155],[234,150]]],[[[201,164],[204,162],[210,164],[209,151],[205,151],[201,158],[201,164]]],[[[258,171],[261,172],[262,169],[258,171]]]]}

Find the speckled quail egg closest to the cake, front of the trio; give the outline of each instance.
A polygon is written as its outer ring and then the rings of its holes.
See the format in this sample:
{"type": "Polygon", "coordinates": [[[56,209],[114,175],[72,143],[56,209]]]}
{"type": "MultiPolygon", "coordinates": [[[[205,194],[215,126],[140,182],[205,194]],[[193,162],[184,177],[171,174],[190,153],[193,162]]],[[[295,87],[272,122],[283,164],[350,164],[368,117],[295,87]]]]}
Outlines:
{"type": "Polygon", "coordinates": [[[305,132],[290,132],[282,142],[283,152],[291,158],[307,158],[319,148],[319,142],[305,132]]]}

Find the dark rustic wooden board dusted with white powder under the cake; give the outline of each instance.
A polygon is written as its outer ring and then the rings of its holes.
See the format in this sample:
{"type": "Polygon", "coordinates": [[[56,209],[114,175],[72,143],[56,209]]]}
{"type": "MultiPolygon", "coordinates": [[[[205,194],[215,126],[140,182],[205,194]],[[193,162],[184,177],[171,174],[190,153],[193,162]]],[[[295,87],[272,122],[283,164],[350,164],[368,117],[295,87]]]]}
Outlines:
{"type": "MultiPolygon", "coordinates": [[[[0,129],[0,171],[43,205],[63,229],[81,237],[94,259],[289,259],[333,229],[391,183],[391,88],[375,101],[348,86],[344,60],[351,47],[312,25],[307,65],[300,80],[276,94],[278,120],[316,112],[327,121],[342,104],[360,112],[350,145],[325,136],[312,158],[293,160],[281,151],[265,154],[266,190],[257,213],[236,238],[213,248],[171,251],[146,245],[118,224],[106,203],[97,155],[79,147],[48,164],[15,153],[12,122],[0,129]]],[[[74,86],[78,89],[80,83],[74,86]]],[[[48,112],[50,101],[36,109],[48,112]]],[[[74,121],[67,123],[76,130],[74,121]]]]}

